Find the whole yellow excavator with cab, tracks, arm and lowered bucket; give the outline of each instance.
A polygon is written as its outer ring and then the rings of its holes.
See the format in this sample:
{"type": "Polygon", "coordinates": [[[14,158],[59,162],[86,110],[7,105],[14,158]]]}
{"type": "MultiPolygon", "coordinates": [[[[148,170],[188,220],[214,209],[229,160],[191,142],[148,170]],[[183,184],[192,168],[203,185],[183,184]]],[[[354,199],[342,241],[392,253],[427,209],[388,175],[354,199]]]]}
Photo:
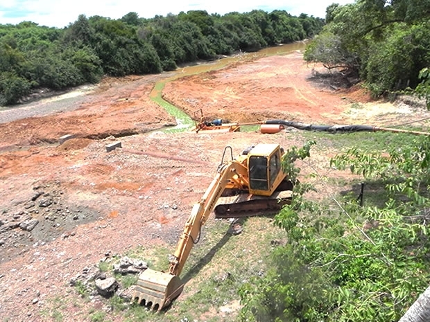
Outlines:
{"type": "Polygon", "coordinates": [[[232,147],[225,147],[216,176],[193,205],[169,271],[146,269],[139,275],[132,300],[160,311],[179,296],[184,287],[179,276],[212,210],[216,217],[243,217],[273,213],[289,204],[293,184],[282,170],[283,155],[279,144],[258,144],[233,159],[232,147]]]}

